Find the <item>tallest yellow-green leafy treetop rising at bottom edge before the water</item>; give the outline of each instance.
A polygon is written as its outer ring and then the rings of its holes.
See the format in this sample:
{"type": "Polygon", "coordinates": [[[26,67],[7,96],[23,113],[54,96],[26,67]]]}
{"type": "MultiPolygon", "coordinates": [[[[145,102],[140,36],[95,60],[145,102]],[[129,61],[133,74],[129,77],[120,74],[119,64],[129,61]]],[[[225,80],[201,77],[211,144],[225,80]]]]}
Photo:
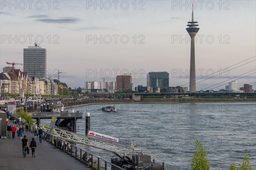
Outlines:
{"type": "Polygon", "coordinates": [[[204,150],[201,142],[195,142],[195,155],[191,163],[192,170],[209,170],[210,164],[207,159],[207,152],[204,150]]]}

